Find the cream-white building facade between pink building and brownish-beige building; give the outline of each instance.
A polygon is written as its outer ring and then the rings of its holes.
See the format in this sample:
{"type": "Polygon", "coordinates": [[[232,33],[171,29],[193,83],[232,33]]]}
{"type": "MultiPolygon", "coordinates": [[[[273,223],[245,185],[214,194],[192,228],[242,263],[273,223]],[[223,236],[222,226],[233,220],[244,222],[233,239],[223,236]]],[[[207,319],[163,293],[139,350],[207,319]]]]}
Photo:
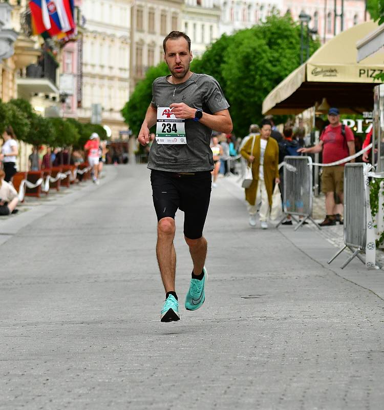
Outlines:
{"type": "Polygon", "coordinates": [[[77,115],[80,121],[89,122],[94,105],[101,106],[102,125],[111,129],[113,139],[127,130],[120,110],[130,95],[131,8],[127,0],[82,2],[77,115]]]}

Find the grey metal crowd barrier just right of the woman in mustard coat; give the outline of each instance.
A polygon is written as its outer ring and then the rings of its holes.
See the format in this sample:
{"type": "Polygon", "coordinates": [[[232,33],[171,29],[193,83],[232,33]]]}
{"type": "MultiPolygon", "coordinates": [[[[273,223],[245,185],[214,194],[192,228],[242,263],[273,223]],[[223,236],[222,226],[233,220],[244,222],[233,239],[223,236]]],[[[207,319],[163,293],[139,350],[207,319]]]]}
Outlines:
{"type": "MultiPolygon", "coordinates": [[[[310,219],[318,229],[318,224],[312,219],[312,159],[308,156],[286,156],[284,158],[284,190],[283,211],[286,215],[302,217],[295,227],[300,228],[306,219],[310,219]]],[[[276,228],[286,218],[278,223],[276,228]]],[[[296,220],[296,219],[295,219],[296,220]]]]}

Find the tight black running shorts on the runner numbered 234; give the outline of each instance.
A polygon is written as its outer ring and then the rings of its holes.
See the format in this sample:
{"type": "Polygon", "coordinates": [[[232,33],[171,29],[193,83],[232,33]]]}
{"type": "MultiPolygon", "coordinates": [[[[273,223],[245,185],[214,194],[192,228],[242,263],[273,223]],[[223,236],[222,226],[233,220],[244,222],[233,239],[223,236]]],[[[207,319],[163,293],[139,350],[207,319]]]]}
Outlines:
{"type": "Polygon", "coordinates": [[[151,185],[157,220],[175,219],[180,209],[184,212],[184,235],[189,239],[201,238],[209,207],[210,171],[185,175],[152,170],[151,185]]]}

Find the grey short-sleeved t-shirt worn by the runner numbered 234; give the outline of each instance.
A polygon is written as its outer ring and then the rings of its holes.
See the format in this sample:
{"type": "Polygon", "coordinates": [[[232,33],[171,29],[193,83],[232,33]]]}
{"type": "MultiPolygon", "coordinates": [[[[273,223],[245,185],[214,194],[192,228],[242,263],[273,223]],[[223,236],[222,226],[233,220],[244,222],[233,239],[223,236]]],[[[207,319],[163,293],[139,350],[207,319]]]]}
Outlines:
{"type": "MultiPolygon", "coordinates": [[[[214,114],[229,107],[219,83],[206,74],[192,74],[185,83],[170,84],[167,77],[156,78],[152,84],[152,107],[169,107],[173,103],[185,103],[189,107],[214,114]]],[[[148,157],[148,168],[169,172],[199,172],[214,169],[210,149],[210,128],[185,120],[185,145],[162,145],[153,141],[148,157]]]]}

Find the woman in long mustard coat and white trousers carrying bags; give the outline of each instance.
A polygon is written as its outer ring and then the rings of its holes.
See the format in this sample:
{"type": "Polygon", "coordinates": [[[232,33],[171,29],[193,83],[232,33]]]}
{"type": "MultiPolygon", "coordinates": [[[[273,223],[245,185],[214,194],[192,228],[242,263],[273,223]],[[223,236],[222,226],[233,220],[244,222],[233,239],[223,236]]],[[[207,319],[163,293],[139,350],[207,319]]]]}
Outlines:
{"type": "Polygon", "coordinates": [[[272,192],[275,183],[280,183],[279,179],[279,145],[275,139],[270,138],[272,124],[269,120],[263,119],[260,125],[260,136],[249,138],[241,149],[240,154],[252,166],[253,181],[249,188],[245,189],[245,199],[248,205],[249,224],[256,226],[257,208],[255,205],[258,193],[261,196],[261,207],[259,211],[260,224],[262,229],[267,229],[268,216],[272,206],[272,192]]]}

